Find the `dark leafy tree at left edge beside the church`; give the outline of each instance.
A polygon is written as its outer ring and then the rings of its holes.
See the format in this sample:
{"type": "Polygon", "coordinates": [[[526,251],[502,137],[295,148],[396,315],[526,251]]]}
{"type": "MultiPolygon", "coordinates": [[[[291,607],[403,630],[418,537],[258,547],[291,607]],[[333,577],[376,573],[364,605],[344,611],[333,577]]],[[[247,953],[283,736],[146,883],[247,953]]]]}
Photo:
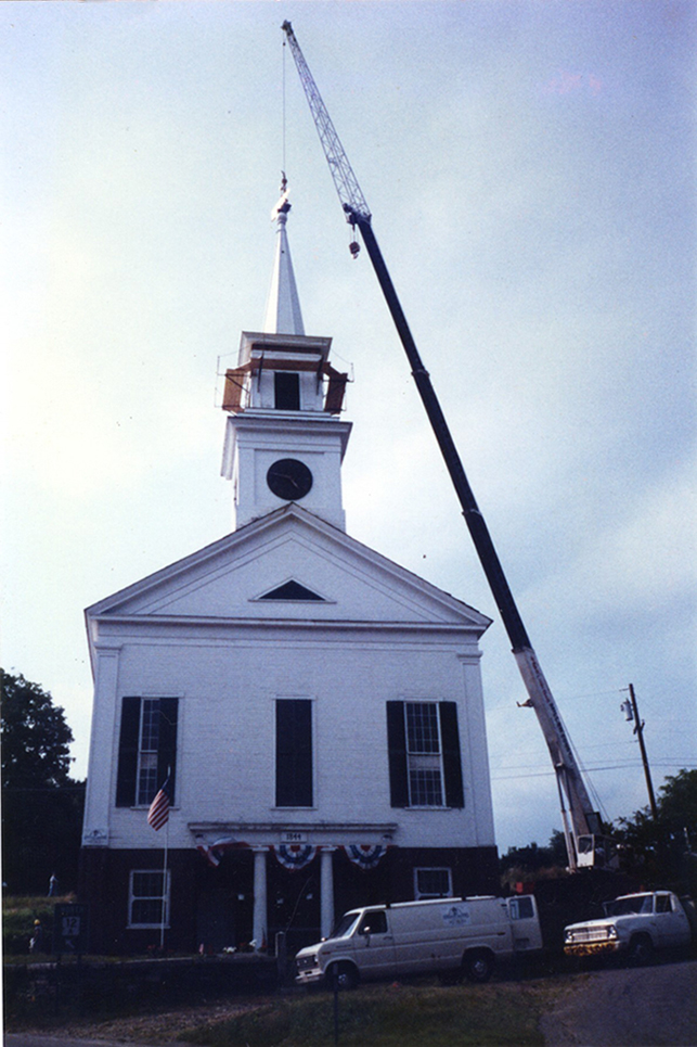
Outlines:
{"type": "Polygon", "coordinates": [[[38,684],[0,669],[2,869],[12,894],[77,886],[85,783],[69,776],[73,731],[38,684]]]}

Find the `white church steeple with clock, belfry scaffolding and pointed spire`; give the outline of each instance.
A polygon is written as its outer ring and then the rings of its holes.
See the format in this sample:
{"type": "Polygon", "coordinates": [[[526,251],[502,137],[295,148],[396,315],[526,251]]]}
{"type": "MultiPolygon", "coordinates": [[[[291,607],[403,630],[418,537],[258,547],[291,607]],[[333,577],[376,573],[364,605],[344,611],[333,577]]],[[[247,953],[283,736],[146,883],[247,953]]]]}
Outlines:
{"type": "Polygon", "coordinates": [[[225,371],[222,475],[234,483],[235,527],[297,501],[345,529],[340,464],[351,424],[338,416],[348,375],[330,363],[331,339],[305,334],[285,176],[281,189],[263,331],[242,332],[237,366],[225,371]]]}

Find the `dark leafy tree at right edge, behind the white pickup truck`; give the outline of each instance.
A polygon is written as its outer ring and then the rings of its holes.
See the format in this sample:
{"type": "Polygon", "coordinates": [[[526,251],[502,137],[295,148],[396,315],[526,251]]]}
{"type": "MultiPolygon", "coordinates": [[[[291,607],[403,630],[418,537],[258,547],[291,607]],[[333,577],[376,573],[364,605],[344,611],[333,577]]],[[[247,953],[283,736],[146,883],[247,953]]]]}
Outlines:
{"type": "Polygon", "coordinates": [[[615,838],[628,872],[647,886],[661,884],[680,891],[697,890],[697,770],[668,776],[650,808],[620,818],[615,838]]]}

